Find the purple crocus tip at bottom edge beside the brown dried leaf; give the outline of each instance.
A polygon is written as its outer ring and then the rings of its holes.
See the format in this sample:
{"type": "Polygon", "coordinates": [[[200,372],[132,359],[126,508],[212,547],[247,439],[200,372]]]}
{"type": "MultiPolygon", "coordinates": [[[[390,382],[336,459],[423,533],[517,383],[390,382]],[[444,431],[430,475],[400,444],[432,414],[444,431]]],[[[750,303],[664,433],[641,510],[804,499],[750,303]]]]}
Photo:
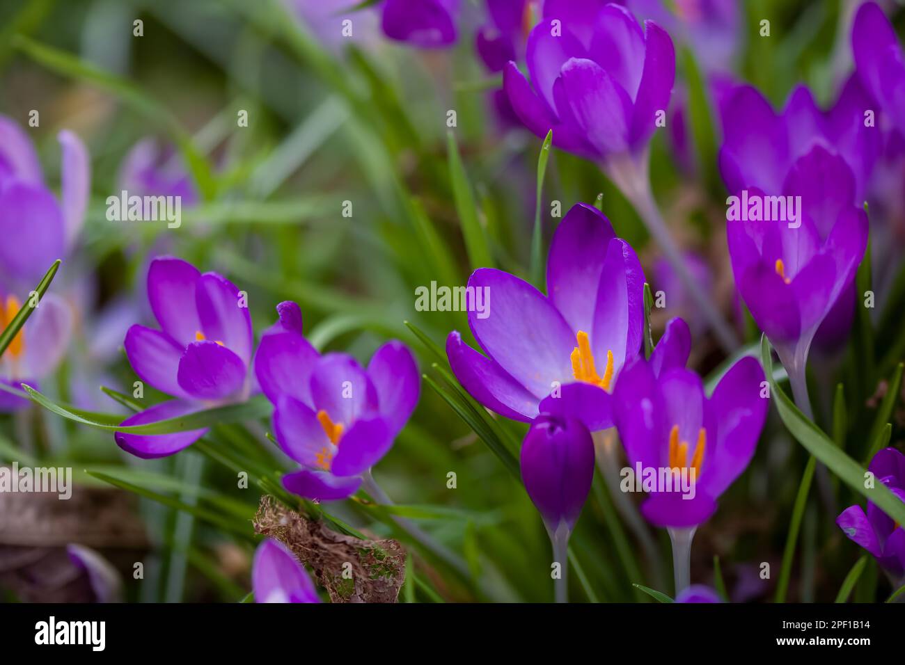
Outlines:
{"type": "Polygon", "coordinates": [[[273,538],[263,540],[254,552],[252,591],[255,603],[320,603],[308,572],[273,538]]]}

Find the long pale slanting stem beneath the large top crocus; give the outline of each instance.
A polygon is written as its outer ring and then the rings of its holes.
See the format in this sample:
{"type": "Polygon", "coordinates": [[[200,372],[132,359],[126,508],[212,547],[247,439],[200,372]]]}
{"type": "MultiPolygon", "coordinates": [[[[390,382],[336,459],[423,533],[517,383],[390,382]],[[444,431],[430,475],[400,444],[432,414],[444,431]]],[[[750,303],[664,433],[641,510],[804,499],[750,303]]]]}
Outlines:
{"type": "Polygon", "coordinates": [[[672,270],[681,280],[682,286],[700,308],[701,313],[707,318],[710,328],[719,340],[719,345],[727,353],[738,348],[738,337],[729,326],[729,323],[720,315],[714,306],[712,295],[701,289],[699,282],[694,280],[691,271],[681,256],[679,247],[672,239],[672,234],[663,221],[660,208],[653,199],[651,180],[648,174],[649,151],[645,151],[640,157],[620,157],[611,159],[603,166],[610,180],[619,187],[625,198],[634,206],[635,211],[641,217],[644,226],[653,237],[666,260],[670,262],[672,270]]]}

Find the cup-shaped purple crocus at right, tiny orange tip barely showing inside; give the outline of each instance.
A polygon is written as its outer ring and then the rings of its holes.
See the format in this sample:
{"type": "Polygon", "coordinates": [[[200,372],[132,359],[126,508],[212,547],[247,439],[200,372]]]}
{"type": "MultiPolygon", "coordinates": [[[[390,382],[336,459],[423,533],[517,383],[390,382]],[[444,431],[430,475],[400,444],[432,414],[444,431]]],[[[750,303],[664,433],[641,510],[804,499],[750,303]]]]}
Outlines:
{"type": "MultiPolygon", "coordinates": [[[[817,328],[851,288],[867,248],[867,215],[852,204],[853,188],[843,158],[814,147],[795,162],[782,189],[801,197],[799,227],[727,222],[738,291],[790,372],[804,371],[817,328]]],[[[751,188],[752,195],[763,192],[751,188]]]]}

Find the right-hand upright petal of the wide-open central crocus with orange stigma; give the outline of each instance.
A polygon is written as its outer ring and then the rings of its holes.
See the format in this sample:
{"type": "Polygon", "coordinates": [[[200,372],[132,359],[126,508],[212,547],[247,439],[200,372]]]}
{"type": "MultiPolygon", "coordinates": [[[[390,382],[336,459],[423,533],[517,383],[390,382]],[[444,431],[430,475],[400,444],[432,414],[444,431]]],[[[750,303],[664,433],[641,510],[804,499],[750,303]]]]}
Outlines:
{"type": "Polygon", "coordinates": [[[606,250],[595,298],[591,348],[597,364],[605,366],[607,351],[614,367],[637,355],[644,325],[644,271],[632,246],[615,238],[606,250]]]}

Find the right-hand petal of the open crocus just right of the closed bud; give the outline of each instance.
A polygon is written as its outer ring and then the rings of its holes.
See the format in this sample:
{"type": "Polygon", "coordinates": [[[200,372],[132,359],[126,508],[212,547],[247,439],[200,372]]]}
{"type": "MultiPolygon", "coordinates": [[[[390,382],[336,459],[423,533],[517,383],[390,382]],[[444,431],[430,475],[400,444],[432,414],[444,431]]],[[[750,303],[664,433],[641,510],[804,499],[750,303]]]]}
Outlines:
{"type": "Polygon", "coordinates": [[[712,464],[700,481],[717,497],[748,468],[767,420],[766,397],[761,397],[764,370],[753,357],[743,357],[729,368],[710,397],[709,409],[717,421],[717,440],[708,442],[712,464]]]}

